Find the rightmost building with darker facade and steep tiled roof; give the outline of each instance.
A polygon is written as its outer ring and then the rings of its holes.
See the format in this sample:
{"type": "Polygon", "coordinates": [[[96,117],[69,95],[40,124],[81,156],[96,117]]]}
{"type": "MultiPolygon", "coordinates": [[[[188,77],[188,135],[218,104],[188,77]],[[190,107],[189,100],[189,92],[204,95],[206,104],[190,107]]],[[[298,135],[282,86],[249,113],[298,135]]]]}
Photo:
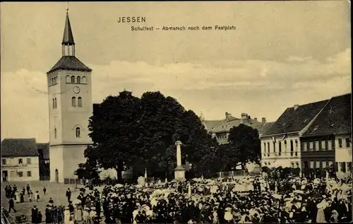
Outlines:
{"type": "Polygon", "coordinates": [[[335,164],[342,175],[352,173],[351,95],[331,98],[301,136],[304,168],[325,168],[335,164]]]}

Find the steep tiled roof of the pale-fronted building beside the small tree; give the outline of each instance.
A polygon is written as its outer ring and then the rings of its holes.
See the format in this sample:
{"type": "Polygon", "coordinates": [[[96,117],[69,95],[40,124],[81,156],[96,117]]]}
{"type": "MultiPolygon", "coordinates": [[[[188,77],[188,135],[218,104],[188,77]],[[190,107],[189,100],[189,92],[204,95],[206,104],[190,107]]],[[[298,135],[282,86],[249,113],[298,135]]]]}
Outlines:
{"type": "Polygon", "coordinates": [[[328,100],[299,105],[297,110],[289,107],[263,136],[301,131],[320,112],[328,100]]]}

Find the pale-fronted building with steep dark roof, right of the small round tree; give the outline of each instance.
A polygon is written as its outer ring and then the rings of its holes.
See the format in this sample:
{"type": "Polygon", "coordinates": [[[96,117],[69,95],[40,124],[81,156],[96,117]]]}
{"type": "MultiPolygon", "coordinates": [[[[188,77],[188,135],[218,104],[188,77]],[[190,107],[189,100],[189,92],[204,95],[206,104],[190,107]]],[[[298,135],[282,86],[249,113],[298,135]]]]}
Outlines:
{"type": "Polygon", "coordinates": [[[303,134],[328,100],[289,107],[261,136],[261,165],[301,168],[303,134]]]}

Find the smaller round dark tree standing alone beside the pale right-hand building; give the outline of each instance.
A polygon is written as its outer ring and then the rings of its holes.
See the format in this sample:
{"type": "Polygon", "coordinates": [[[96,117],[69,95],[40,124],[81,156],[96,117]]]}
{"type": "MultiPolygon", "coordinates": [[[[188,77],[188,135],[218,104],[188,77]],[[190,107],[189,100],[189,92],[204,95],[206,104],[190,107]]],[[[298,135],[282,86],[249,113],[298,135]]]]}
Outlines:
{"type": "Polygon", "coordinates": [[[251,126],[239,124],[229,131],[229,143],[222,146],[222,163],[225,167],[236,167],[240,163],[242,169],[246,163],[258,163],[261,157],[261,141],[258,130],[251,126]]]}

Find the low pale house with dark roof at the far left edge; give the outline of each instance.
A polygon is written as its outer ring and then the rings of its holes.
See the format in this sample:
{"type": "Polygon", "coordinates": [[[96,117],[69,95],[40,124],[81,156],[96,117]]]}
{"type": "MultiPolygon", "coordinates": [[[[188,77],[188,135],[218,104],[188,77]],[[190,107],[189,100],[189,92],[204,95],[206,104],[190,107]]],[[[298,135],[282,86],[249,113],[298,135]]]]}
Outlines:
{"type": "Polygon", "coordinates": [[[1,142],[1,181],[40,180],[35,138],[6,138],[1,142]]]}

